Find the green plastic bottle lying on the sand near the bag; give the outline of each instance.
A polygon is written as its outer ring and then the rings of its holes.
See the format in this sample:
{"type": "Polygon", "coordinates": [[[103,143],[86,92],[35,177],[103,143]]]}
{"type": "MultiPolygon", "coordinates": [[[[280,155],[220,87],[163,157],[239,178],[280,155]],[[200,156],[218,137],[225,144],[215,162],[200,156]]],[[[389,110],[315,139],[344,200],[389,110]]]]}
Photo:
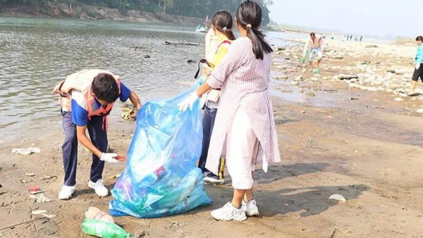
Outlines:
{"type": "Polygon", "coordinates": [[[81,225],[82,232],[95,237],[102,238],[125,238],[130,237],[130,233],[125,232],[115,223],[104,220],[85,219],[81,225]]]}

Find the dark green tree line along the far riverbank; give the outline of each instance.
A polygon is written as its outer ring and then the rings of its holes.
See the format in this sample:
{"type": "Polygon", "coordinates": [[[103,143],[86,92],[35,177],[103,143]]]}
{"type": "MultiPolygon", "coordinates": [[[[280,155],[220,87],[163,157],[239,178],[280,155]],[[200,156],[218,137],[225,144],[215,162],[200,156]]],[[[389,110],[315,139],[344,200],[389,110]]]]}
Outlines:
{"type": "MultiPolygon", "coordinates": [[[[204,18],[221,9],[235,12],[238,5],[244,0],[0,0],[0,8],[11,6],[46,6],[50,3],[63,2],[68,5],[90,4],[93,6],[105,6],[121,10],[138,10],[149,12],[161,12],[172,15],[186,15],[204,18]]],[[[269,8],[271,0],[256,0],[262,5],[264,24],[268,24],[269,8]]]]}

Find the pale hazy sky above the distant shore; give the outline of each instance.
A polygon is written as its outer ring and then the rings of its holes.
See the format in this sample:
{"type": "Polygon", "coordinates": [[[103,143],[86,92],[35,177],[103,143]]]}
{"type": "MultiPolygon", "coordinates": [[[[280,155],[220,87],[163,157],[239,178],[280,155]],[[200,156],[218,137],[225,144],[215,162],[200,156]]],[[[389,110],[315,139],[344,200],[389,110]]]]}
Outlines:
{"type": "Polygon", "coordinates": [[[423,35],[423,0],[274,0],[271,19],[283,25],[363,35],[423,35]]]}

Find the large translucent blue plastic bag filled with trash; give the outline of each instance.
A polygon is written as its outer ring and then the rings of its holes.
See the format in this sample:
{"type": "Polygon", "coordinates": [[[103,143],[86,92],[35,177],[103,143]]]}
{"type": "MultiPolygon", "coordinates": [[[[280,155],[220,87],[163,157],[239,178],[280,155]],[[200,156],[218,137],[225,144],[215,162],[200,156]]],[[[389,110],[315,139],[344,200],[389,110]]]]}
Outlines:
{"type": "Polygon", "coordinates": [[[202,149],[200,101],[192,110],[178,108],[193,90],[149,101],[138,112],[126,168],[112,191],[111,215],[156,218],[212,203],[195,164],[202,149]]]}

